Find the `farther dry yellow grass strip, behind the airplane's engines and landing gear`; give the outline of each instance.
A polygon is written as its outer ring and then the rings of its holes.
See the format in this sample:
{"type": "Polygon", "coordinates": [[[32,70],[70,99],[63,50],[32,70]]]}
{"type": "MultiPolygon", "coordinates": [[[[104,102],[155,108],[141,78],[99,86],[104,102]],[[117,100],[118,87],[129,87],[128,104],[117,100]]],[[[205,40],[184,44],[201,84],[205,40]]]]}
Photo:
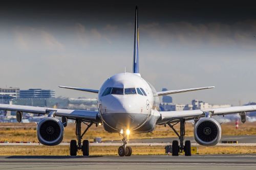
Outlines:
{"type": "MultiPolygon", "coordinates": [[[[240,124],[239,129],[236,129],[234,123],[222,124],[222,135],[256,135],[256,122],[240,124]]],[[[85,129],[86,126],[82,126],[85,129]]],[[[179,124],[175,126],[179,132],[179,124]]],[[[63,141],[70,142],[71,139],[76,139],[75,125],[74,123],[68,124],[65,128],[65,135],[63,141]]],[[[186,123],[186,137],[194,136],[194,126],[191,123],[186,123]]],[[[84,139],[93,141],[95,137],[101,137],[102,141],[106,140],[120,140],[121,136],[117,133],[108,133],[104,131],[102,126],[92,126],[85,135],[84,139]]],[[[169,127],[157,126],[156,130],[152,133],[141,133],[130,135],[130,139],[151,139],[151,138],[166,138],[166,137],[177,137],[177,135],[169,127]]],[[[236,140],[236,139],[232,139],[236,140]]],[[[31,141],[38,142],[36,136],[36,124],[35,123],[0,123],[0,141],[31,141]]],[[[170,141],[171,142],[171,141],[170,141]]]]}

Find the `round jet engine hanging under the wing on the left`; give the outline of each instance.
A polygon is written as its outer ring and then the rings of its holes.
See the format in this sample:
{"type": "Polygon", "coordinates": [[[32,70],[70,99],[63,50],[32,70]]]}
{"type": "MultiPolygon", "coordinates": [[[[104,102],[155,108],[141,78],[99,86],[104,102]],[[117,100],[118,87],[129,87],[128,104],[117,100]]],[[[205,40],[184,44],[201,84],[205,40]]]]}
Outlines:
{"type": "Polygon", "coordinates": [[[59,119],[47,117],[42,119],[37,126],[37,138],[44,145],[57,145],[64,136],[64,127],[59,119]]]}

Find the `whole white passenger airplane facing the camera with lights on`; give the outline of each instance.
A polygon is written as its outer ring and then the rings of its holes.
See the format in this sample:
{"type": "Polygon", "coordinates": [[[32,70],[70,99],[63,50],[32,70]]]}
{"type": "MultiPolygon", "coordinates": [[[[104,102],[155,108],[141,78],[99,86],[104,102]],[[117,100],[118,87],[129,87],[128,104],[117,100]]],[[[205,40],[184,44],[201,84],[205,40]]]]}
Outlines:
{"type": "Polygon", "coordinates": [[[119,156],[131,156],[132,148],[127,145],[131,133],[150,133],[157,125],[168,125],[178,140],[172,141],[172,155],[178,156],[184,151],[191,156],[191,142],[185,139],[185,122],[194,120],[194,137],[204,146],[216,145],[221,138],[221,126],[212,118],[214,115],[239,113],[245,122],[246,112],[256,111],[256,105],[216,108],[205,110],[160,111],[159,96],[195,90],[214,88],[214,86],[188,88],[181,90],[156,91],[152,84],[144,80],[139,73],[139,29],[138,8],[135,10],[133,71],[122,72],[108,78],[99,90],[59,86],[98,94],[98,110],[69,110],[46,107],[19,106],[0,104],[0,110],[16,111],[17,122],[22,120],[23,112],[47,114],[37,125],[37,138],[41,144],[57,145],[64,135],[68,119],[75,120],[76,140],[70,141],[70,155],[76,156],[78,150],[89,156],[89,141],[82,138],[92,125],[103,125],[106,132],[122,135],[122,145],[118,148],[119,156]],[[57,119],[56,117],[61,117],[57,119]],[[178,133],[174,125],[180,123],[178,133]],[[81,131],[81,124],[87,128],[81,131]]]}

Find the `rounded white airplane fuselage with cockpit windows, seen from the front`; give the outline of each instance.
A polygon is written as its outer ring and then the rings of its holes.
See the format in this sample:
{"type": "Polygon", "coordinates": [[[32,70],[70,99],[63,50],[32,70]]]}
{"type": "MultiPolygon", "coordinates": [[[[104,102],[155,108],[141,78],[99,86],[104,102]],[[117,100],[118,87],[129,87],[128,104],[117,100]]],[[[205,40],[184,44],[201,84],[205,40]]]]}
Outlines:
{"type": "Polygon", "coordinates": [[[110,77],[99,90],[98,104],[108,132],[152,132],[160,117],[159,96],[140,74],[125,72],[110,77]]]}

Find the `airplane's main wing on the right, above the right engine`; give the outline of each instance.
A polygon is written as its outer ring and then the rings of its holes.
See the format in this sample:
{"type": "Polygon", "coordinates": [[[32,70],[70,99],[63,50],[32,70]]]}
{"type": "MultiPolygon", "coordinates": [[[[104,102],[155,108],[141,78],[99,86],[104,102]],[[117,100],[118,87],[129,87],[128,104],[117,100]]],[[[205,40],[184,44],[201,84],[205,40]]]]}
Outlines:
{"type": "Polygon", "coordinates": [[[236,107],[226,107],[226,108],[216,108],[216,109],[204,109],[204,110],[183,110],[183,111],[160,111],[161,118],[157,124],[175,122],[181,118],[185,120],[191,120],[195,117],[203,117],[206,112],[211,112],[212,115],[225,115],[234,114],[241,112],[252,112],[256,111],[256,105],[249,106],[236,106],[236,107]]]}

